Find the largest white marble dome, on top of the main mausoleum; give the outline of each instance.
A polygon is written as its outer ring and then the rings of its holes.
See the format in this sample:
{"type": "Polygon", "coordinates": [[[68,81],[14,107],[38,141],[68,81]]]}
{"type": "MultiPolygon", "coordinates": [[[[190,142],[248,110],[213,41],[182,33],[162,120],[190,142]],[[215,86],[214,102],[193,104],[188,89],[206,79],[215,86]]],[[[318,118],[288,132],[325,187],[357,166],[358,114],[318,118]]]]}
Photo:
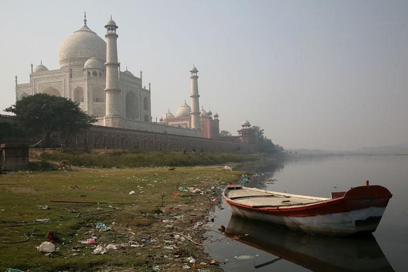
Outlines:
{"type": "Polygon", "coordinates": [[[85,24],[61,44],[60,66],[68,67],[68,60],[71,65],[83,66],[92,57],[106,62],[106,42],[85,24]]]}

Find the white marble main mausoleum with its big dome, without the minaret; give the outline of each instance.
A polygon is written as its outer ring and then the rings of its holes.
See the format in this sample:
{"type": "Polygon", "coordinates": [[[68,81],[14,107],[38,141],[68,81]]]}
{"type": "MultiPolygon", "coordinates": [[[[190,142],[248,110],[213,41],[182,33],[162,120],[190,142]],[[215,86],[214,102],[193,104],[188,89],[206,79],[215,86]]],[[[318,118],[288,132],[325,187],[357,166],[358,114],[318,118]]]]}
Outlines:
{"type": "MultiPolygon", "coordinates": [[[[103,27],[103,26],[101,26],[103,27]]],[[[30,83],[18,84],[16,100],[35,93],[48,93],[80,103],[82,110],[99,118],[106,113],[106,56],[104,39],[87,26],[75,31],[61,45],[60,68],[48,70],[41,62],[31,68],[30,83]]],[[[120,70],[120,66],[119,66],[120,70]]],[[[123,119],[151,122],[150,86],[142,86],[141,73],[119,71],[121,114],[123,119]]]]}

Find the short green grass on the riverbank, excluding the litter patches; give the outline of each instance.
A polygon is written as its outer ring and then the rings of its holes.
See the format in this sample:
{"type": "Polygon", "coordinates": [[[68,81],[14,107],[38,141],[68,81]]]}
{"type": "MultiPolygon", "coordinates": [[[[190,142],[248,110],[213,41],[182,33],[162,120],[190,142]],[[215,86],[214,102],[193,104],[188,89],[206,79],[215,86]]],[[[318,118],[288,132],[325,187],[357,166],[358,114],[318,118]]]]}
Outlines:
{"type": "MultiPolygon", "coordinates": [[[[147,265],[173,262],[176,265],[167,267],[170,271],[181,270],[183,265],[177,260],[160,257],[172,256],[171,252],[162,249],[164,239],[170,240],[171,231],[193,234],[193,239],[200,239],[200,234],[191,228],[202,219],[211,206],[211,194],[199,195],[181,193],[179,186],[197,186],[210,188],[212,185],[230,182],[237,178],[236,172],[223,171],[220,167],[180,167],[174,171],[167,168],[125,168],[125,169],[74,169],[72,171],[17,172],[0,175],[0,241],[23,240],[23,233],[36,230],[34,237],[22,243],[1,243],[0,270],[7,267],[31,269],[31,271],[54,270],[95,270],[107,267],[135,267],[146,269],[147,265]],[[149,186],[151,184],[154,186],[149,186]],[[77,185],[79,189],[72,189],[77,185]],[[137,186],[143,187],[139,189],[137,186]],[[131,190],[138,193],[129,195],[131,190]],[[142,190],[144,193],[139,193],[142,190]],[[174,197],[172,192],[185,196],[174,197]],[[172,230],[164,229],[155,210],[161,206],[164,194],[165,208],[173,212],[189,215],[186,219],[174,222],[172,230]],[[81,196],[85,195],[85,196],[81,196]],[[49,200],[93,201],[108,204],[68,204],[51,203],[49,200]],[[42,210],[37,205],[48,205],[50,209],[42,210]],[[71,217],[79,212],[98,212],[97,207],[108,211],[112,205],[121,209],[108,214],[81,217],[78,219],[46,222],[44,224],[10,227],[4,221],[33,221],[39,218],[71,217]],[[70,212],[69,210],[75,210],[70,212]],[[116,223],[114,232],[97,232],[95,224],[103,221],[110,225],[116,223]],[[177,226],[177,224],[181,224],[177,226]],[[127,229],[132,229],[129,231],[127,229]],[[16,232],[17,231],[17,232],[16,232]],[[39,253],[35,246],[46,241],[48,231],[54,231],[59,239],[57,246],[61,251],[54,258],[39,253]],[[105,255],[93,255],[90,245],[81,245],[78,240],[86,240],[92,234],[100,236],[99,243],[120,244],[127,242],[135,233],[139,237],[154,237],[155,244],[148,244],[143,249],[124,248],[119,252],[105,255]],[[194,236],[196,235],[196,237],[194,236]],[[63,244],[64,242],[64,244],[63,244]],[[160,248],[153,246],[161,245],[160,248]],[[81,252],[72,256],[73,246],[80,246],[81,252]],[[180,265],[179,265],[180,264],[180,265]]],[[[174,215],[174,214],[173,214],[174,215]]],[[[165,213],[163,218],[172,218],[165,213]],[[168,216],[168,217],[166,217],[168,216]]],[[[174,239],[173,239],[174,240],[174,239]]],[[[179,244],[195,256],[197,262],[206,261],[200,249],[189,242],[179,244]]],[[[151,269],[151,268],[150,268],[151,269]]]]}

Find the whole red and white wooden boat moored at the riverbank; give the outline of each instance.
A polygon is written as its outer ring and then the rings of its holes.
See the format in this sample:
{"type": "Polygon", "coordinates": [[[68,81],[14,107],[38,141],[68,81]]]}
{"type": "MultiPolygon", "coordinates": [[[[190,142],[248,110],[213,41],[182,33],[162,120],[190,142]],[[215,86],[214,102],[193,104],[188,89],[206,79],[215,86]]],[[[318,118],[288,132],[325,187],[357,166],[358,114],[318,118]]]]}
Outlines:
{"type": "Polygon", "coordinates": [[[379,185],[331,193],[331,199],[228,184],[222,196],[234,215],[329,236],[374,232],[392,194],[379,185]]]}

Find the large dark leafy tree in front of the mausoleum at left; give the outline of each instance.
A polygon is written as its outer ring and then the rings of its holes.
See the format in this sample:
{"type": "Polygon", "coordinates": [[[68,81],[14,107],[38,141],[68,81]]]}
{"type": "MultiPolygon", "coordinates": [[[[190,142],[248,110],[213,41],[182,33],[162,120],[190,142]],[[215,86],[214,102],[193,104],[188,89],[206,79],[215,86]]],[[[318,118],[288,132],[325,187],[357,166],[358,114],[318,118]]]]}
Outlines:
{"type": "Polygon", "coordinates": [[[14,113],[15,123],[27,133],[43,137],[40,142],[45,146],[54,133],[67,140],[88,130],[96,121],[79,108],[79,103],[46,93],[25,96],[5,111],[14,113]]]}

